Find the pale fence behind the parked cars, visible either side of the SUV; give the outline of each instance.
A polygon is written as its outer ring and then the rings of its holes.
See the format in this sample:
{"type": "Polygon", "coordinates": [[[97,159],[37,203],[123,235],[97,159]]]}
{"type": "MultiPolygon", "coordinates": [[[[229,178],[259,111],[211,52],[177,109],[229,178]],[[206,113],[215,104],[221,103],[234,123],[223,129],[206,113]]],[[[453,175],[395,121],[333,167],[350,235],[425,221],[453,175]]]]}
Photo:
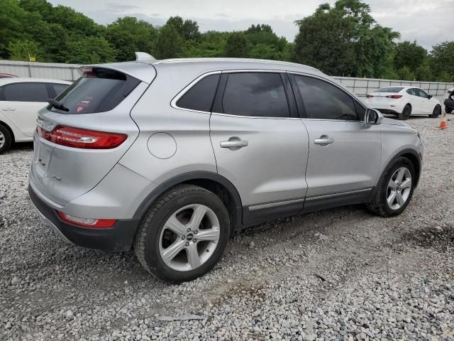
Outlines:
{"type": "MultiPolygon", "coordinates": [[[[77,80],[80,77],[79,66],[77,64],[57,64],[57,63],[30,63],[16,62],[11,60],[0,60],[0,72],[12,73],[20,77],[50,78],[55,80],[77,80]]],[[[339,83],[348,90],[360,97],[388,86],[409,86],[421,87],[433,97],[441,102],[443,96],[454,83],[443,82],[411,82],[409,80],[377,80],[372,78],[355,77],[334,77],[339,83]]]]}

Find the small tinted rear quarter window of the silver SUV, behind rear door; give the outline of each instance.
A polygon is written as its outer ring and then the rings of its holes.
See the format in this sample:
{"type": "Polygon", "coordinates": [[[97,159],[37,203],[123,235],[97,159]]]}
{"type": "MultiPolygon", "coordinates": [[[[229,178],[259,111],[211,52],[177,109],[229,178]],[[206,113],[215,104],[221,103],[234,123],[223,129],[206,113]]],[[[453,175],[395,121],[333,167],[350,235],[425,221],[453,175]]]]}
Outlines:
{"type": "Polygon", "coordinates": [[[219,77],[220,75],[209,75],[199,80],[196,85],[178,99],[177,106],[198,110],[199,112],[211,112],[219,77]]]}

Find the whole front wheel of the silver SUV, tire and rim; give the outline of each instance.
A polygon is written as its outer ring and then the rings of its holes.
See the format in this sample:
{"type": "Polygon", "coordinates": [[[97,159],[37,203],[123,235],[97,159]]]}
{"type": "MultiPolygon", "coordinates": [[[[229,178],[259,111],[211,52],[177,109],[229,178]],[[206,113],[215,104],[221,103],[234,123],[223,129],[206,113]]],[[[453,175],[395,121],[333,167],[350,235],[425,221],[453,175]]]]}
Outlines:
{"type": "Polygon", "coordinates": [[[382,174],[367,209],[382,217],[400,215],[409,205],[415,183],[413,163],[408,158],[397,158],[382,174]]]}

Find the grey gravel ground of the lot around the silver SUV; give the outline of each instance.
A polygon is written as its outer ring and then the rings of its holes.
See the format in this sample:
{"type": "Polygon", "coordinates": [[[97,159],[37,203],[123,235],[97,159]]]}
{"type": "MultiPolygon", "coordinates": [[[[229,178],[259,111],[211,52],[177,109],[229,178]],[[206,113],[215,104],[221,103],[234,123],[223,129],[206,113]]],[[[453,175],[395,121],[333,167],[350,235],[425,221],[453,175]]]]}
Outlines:
{"type": "Polygon", "coordinates": [[[0,156],[0,340],[454,340],[454,124],[438,121],[408,121],[426,156],[399,217],[262,224],[181,285],[64,244],[28,199],[33,146],[16,146],[0,156]]]}

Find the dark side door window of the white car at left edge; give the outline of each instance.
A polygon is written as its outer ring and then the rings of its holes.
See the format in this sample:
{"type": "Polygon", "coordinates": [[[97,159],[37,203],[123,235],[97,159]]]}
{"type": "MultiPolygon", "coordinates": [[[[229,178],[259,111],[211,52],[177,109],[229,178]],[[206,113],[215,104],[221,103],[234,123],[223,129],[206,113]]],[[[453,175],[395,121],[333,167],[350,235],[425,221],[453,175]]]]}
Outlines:
{"type": "Polygon", "coordinates": [[[15,102],[48,102],[50,97],[45,83],[13,83],[1,90],[1,99],[15,102]]]}

